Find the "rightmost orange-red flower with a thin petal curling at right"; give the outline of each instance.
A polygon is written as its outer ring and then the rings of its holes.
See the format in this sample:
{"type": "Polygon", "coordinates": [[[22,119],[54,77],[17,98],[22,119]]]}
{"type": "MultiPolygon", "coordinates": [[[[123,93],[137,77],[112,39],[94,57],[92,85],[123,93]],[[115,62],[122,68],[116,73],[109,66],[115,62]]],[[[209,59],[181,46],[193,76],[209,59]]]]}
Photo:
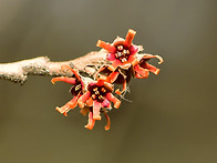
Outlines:
{"type": "Polygon", "coordinates": [[[149,75],[149,72],[153,72],[155,74],[159,73],[159,69],[147,63],[147,61],[152,58],[157,58],[159,60],[158,64],[163,63],[164,61],[162,57],[152,55],[152,54],[146,54],[140,61],[138,60],[134,61],[133,68],[134,68],[135,78],[145,79],[149,75]]]}

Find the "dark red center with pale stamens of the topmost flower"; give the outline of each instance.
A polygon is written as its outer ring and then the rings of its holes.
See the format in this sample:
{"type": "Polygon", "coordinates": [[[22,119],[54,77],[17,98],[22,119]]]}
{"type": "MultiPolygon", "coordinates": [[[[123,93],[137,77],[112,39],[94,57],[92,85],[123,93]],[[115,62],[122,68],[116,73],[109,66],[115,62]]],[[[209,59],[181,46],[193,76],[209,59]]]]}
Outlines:
{"type": "Polygon", "coordinates": [[[122,63],[128,60],[131,51],[128,50],[128,47],[123,44],[116,47],[115,58],[118,59],[122,63]]]}

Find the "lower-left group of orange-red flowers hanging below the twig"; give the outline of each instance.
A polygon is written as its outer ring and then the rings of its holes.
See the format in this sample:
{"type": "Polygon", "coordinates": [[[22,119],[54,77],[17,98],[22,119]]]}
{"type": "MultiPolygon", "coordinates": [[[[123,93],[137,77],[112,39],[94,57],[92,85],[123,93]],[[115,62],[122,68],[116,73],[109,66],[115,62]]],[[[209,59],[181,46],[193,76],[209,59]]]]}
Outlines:
{"type": "Polygon", "coordinates": [[[112,108],[111,102],[114,103],[115,109],[118,109],[121,104],[121,101],[112,94],[114,90],[113,85],[103,78],[97,81],[91,80],[91,82],[87,82],[71,67],[64,64],[61,68],[62,70],[68,69],[72,71],[74,78],[58,77],[53,78],[51,82],[54,84],[56,81],[62,81],[72,84],[71,93],[73,99],[61,108],[56,106],[55,110],[68,116],[68,112],[79,104],[82,114],[86,115],[89,112],[89,122],[85,128],[90,130],[93,129],[95,120],[101,120],[101,113],[104,113],[107,120],[105,130],[110,130],[110,118],[106,114],[106,109],[112,108]]]}

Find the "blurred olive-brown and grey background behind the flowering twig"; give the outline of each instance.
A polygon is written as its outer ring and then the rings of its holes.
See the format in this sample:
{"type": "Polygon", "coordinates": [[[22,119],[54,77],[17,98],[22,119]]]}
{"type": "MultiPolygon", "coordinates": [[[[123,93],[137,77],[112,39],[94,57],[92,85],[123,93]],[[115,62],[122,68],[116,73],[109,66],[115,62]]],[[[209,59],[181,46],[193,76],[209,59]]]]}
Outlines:
{"type": "Polygon", "coordinates": [[[161,54],[159,75],[134,79],[131,94],[89,131],[75,109],[54,110],[70,85],[29,77],[0,80],[1,163],[216,163],[216,0],[1,0],[0,62],[75,59],[137,31],[134,43],[161,54]]]}

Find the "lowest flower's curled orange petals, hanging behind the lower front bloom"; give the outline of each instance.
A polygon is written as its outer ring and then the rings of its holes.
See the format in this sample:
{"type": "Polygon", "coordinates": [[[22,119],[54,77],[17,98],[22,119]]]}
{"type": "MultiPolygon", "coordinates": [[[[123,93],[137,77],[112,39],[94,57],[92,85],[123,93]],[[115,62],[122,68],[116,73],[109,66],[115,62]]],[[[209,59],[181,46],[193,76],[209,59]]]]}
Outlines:
{"type": "MultiPolygon", "coordinates": [[[[86,128],[89,130],[92,130],[94,124],[95,124],[95,120],[93,119],[93,106],[82,108],[80,112],[83,115],[86,115],[89,113],[89,121],[87,121],[87,124],[84,128],[86,128]]],[[[106,112],[107,111],[105,109],[101,109],[101,113],[104,113],[104,115],[107,120],[107,124],[105,125],[105,130],[110,130],[111,122],[110,122],[110,116],[106,114],[106,112]]]]}

